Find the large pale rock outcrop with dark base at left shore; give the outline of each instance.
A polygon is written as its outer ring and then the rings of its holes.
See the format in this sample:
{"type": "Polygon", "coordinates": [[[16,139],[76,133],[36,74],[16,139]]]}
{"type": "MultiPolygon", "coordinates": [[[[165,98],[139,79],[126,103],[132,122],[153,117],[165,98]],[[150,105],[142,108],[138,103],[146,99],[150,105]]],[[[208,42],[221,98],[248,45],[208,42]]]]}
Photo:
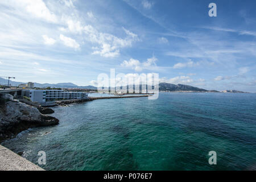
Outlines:
{"type": "MultiPolygon", "coordinates": [[[[41,114],[34,107],[18,100],[10,100],[11,96],[4,94],[1,99],[5,99],[4,105],[0,106],[0,134],[1,138],[9,137],[29,127],[47,126],[59,123],[59,120],[49,115],[41,114]]],[[[0,138],[0,139],[1,139],[0,138]]]]}

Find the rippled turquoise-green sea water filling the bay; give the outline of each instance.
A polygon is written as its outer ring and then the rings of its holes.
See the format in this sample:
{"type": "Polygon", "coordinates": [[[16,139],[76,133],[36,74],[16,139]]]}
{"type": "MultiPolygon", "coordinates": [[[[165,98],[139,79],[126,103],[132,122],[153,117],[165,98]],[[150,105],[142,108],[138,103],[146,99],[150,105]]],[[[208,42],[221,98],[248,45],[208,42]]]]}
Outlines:
{"type": "Polygon", "coordinates": [[[35,164],[45,151],[48,170],[256,169],[256,94],[160,93],[53,109],[59,125],[3,146],[35,164]]]}

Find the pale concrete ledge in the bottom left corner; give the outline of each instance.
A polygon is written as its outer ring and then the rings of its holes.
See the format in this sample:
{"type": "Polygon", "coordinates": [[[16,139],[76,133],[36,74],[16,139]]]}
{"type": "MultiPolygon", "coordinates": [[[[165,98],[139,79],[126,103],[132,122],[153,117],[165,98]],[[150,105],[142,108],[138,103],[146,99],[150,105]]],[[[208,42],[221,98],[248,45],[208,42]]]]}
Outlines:
{"type": "Polygon", "coordinates": [[[0,145],[0,171],[44,171],[44,169],[0,145]]]}

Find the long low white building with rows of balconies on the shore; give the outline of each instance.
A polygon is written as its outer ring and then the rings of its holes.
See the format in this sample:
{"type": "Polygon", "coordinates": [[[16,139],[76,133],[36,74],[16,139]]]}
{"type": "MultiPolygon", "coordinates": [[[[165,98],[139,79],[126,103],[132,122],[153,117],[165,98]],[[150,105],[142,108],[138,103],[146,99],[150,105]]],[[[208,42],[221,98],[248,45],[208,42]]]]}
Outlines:
{"type": "Polygon", "coordinates": [[[87,98],[85,92],[64,92],[63,90],[23,90],[24,96],[32,102],[43,104],[49,101],[87,98]]]}

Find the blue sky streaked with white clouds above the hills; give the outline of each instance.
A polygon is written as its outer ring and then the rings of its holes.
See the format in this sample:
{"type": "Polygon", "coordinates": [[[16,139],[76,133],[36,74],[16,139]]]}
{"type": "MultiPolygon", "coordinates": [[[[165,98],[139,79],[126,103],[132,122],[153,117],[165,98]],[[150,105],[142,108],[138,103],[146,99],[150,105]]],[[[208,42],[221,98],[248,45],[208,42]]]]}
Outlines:
{"type": "Polygon", "coordinates": [[[114,68],[256,92],[255,7],[246,0],[1,0],[0,76],[97,86],[98,75],[114,68]]]}

